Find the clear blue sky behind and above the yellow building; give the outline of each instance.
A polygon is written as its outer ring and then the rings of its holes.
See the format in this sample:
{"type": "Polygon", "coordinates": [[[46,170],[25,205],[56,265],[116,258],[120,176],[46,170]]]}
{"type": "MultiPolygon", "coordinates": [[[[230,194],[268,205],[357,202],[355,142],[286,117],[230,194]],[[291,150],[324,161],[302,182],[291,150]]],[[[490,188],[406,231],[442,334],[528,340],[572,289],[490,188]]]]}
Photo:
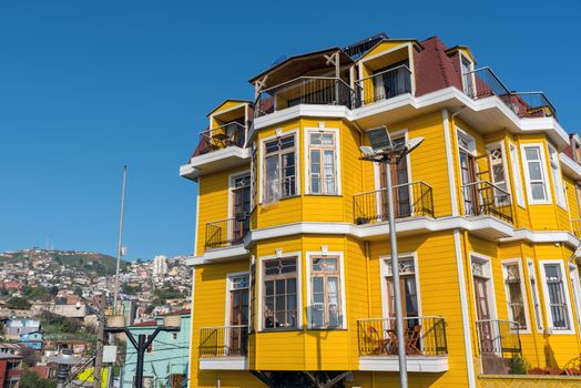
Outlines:
{"type": "Polygon", "coordinates": [[[0,251],[114,254],[129,164],[129,259],[191,254],[196,185],[180,178],[206,113],[249,99],[283,54],[385,31],[471,48],[513,90],[543,90],[578,130],[580,0],[2,1],[0,251]],[[472,6],[473,4],[473,6],[472,6]]]}

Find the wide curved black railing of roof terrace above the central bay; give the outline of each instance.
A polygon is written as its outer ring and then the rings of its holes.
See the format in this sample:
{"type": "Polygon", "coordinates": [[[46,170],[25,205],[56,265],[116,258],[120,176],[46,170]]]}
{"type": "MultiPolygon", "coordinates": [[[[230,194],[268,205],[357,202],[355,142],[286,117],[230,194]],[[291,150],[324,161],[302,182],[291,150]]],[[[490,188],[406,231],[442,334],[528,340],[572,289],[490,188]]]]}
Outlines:
{"type": "Polygon", "coordinates": [[[254,104],[256,118],[298,104],[345,105],[356,104],[355,93],[345,81],[337,78],[300,76],[266,89],[254,104]]]}

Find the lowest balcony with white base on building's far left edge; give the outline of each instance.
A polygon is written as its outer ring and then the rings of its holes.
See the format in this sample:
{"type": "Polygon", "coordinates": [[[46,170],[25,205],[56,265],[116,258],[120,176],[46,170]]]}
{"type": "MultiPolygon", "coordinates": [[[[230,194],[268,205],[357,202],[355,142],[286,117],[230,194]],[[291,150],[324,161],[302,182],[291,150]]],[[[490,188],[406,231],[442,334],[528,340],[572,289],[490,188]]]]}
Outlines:
{"type": "Polygon", "coordinates": [[[200,369],[247,369],[248,326],[200,329],[200,369]]]}

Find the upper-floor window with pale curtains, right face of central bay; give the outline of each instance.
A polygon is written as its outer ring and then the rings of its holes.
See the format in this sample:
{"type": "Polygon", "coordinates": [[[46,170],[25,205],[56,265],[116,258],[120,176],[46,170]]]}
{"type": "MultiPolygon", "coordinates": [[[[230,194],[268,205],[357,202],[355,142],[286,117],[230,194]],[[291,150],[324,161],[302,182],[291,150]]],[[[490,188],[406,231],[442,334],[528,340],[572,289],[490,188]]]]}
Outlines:
{"type": "Polygon", "coordinates": [[[310,194],[337,194],[337,154],[334,132],[309,133],[310,194]]]}

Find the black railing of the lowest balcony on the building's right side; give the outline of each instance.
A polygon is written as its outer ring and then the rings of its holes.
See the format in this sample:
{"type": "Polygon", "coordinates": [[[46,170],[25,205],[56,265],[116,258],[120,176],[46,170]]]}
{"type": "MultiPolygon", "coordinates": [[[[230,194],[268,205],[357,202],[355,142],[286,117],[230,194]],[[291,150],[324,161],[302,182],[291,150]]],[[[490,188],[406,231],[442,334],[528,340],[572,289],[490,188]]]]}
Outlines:
{"type": "Polygon", "coordinates": [[[478,347],[481,355],[510,358],[521,354],[519,324],[511,320],[477,320],[478,347]]]}

